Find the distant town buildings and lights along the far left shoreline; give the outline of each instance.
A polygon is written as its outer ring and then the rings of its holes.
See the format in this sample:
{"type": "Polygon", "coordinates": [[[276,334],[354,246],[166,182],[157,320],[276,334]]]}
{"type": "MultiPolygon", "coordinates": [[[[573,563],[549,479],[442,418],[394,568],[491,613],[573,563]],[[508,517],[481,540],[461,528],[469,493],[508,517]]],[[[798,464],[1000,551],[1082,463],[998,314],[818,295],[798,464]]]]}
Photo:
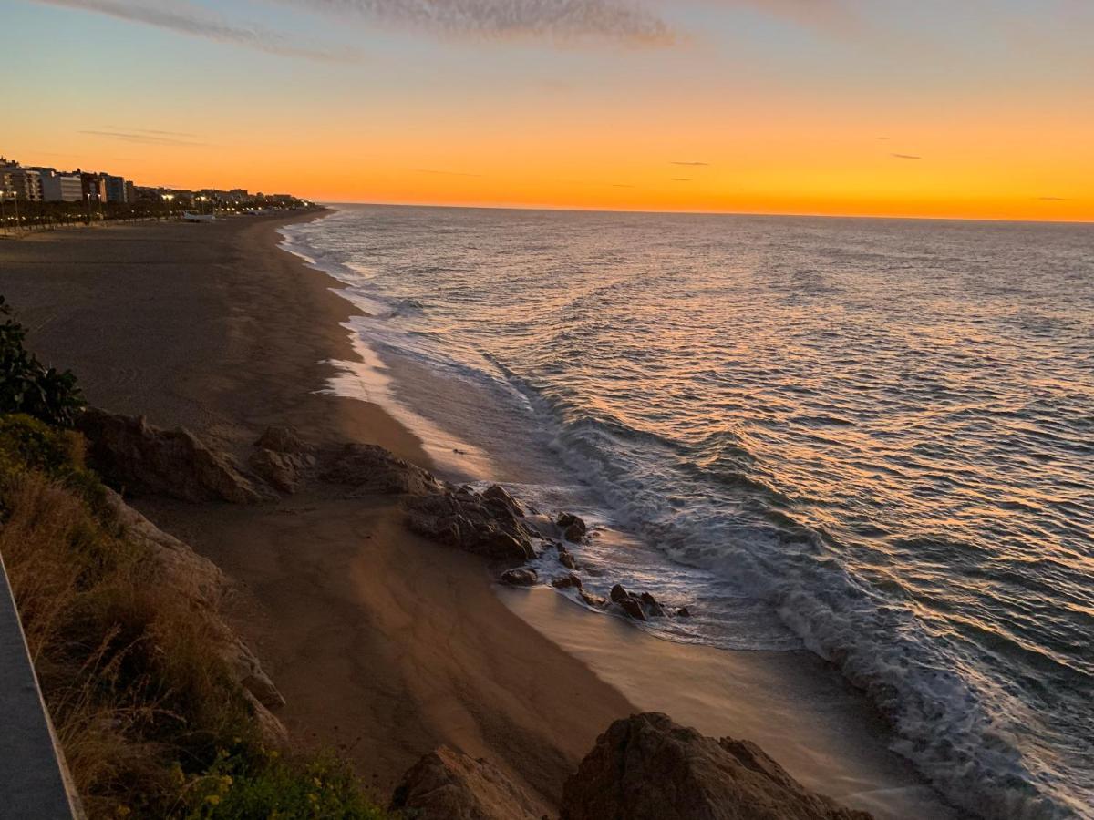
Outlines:
{"type": "Polygon", "coordinates": [[[105,220],[193,219],[304,208],[291,194],[243,188],[165,188],[137,185],[116,174],[58,171],[0,156],[0,226],[47,229],[105,220]]]}

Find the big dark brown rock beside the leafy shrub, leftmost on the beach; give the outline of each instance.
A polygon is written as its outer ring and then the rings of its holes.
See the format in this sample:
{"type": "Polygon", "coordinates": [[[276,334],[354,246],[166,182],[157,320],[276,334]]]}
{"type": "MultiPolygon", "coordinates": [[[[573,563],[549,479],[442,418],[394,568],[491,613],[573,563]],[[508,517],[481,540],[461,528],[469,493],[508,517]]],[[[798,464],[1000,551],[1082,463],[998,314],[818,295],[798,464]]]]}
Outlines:
{"type": "Polygon", "coordinates": [[[235,504],[264,497],[231,456],[207,447],[184,427],[161,430],[144,417],[94,408],[80,417],[79,427],[91,444],[91,466],[130,493],[235,504]]]}

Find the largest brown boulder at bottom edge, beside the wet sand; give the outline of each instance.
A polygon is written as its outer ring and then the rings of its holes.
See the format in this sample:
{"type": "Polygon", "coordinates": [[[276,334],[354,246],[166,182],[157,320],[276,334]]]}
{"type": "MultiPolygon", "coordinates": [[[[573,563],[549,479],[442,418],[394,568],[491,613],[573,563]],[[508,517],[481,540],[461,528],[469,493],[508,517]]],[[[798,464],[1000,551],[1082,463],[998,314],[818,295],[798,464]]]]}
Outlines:
{"type": "Polygon", "coordinates": [[[647,713],[616,721],[562,788],[561,820],[870,820],[808,792],[747,740],[647,713]]]}

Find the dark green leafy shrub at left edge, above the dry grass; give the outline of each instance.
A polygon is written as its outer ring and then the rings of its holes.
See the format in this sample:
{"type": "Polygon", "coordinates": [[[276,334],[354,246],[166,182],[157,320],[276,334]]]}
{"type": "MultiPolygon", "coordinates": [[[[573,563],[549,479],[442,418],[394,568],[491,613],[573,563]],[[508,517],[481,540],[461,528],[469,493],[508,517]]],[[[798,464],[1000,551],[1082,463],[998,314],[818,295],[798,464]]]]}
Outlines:
{"type": "Polygon", "coordinates": [[[65,427],[72,426],[84,407],[75,376],[46,367],[23,347],[26,328],[11,318],[11,306],[0,296],[0,412],[27,413],[65,427]]]}

